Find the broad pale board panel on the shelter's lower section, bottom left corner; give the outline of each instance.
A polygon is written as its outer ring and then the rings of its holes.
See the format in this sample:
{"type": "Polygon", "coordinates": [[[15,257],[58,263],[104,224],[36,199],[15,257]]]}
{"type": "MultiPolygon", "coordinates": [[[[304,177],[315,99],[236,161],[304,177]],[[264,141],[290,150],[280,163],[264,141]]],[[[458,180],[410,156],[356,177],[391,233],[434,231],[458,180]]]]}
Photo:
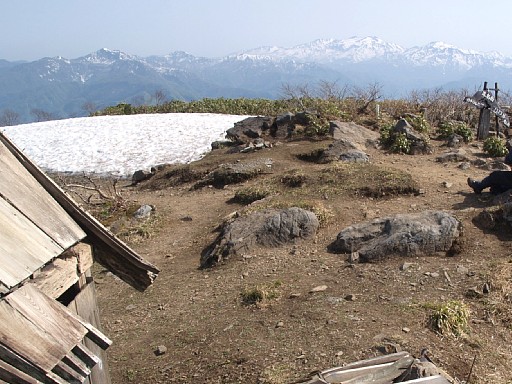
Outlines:
{"type": "Polygon", "coordinates": [[[0,301],[1,342],[45,372],[86,333],[64,306],[29,284],[0,301]]]}

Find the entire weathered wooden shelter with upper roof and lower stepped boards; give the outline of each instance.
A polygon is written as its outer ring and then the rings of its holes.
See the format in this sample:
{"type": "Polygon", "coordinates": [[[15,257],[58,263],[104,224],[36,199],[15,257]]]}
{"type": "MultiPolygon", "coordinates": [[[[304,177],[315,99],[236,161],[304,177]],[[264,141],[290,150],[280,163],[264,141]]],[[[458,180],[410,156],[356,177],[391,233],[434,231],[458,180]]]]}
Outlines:
{"type": "Polygon", "coordinates": [[[96,261],[140,291],[158,275],[0,132],[0,383],[82,383],[100,361],[84,342],[110,345],[54,300],[68,288],[55,282],[55,270],[73,282],[86,267],[76,254],[82,240],[96,261]]]}

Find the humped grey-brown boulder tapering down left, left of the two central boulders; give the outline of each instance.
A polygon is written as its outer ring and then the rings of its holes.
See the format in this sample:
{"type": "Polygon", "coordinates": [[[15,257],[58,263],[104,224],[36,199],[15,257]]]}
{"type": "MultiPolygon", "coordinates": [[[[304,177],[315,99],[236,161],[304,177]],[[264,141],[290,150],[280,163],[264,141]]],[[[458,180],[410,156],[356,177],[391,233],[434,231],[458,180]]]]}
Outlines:
{"type": "Polygon", "coordinates": [[[319,223],[313,212],[292,207],[264,210],[227,223],[217,239],[201,254],[201,267],[210,267],[255,246],[279,247],[316,234],[319,223]]]}

